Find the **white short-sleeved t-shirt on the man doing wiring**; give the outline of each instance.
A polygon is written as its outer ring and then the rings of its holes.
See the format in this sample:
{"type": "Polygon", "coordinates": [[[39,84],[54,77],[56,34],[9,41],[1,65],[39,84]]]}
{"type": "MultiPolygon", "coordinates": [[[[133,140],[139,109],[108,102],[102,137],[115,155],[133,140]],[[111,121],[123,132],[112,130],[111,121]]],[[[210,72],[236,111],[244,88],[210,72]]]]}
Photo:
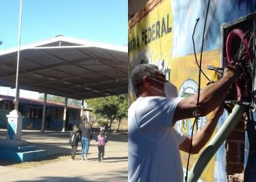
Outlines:
{"type": "Polygon", "coordinates": [[[173,128],[182,98],[137,98],[128,110],[128,181],[183,181],[179,144],[186,135],[173,128]]]}

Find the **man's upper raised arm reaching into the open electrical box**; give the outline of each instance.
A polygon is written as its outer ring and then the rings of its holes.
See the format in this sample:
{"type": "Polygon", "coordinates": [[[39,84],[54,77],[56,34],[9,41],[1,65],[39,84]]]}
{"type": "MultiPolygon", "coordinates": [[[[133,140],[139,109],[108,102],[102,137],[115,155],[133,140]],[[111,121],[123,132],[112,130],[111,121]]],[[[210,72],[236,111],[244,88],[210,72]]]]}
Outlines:
{"type": "MultiPolygon", "coordinates": [[[[200,116],[209,114],[223,102],[230,86],[236,80],[237,72],[234,62],[230,63],[224,69],[223,78],[200,91],[198,107],[200,116]]],[[[181,100],[175,109],[173,121],[194,117],[193,112],[196,111],[197,97],[198,94],[181,100]]]]}

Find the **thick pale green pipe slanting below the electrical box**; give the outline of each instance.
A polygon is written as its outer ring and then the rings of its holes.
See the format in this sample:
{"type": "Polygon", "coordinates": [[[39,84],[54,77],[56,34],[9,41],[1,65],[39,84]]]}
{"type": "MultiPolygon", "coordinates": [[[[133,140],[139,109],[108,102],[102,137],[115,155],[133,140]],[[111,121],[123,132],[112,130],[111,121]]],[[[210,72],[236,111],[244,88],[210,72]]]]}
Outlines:
{"type": "Polygon", "coordinates": [[[202,171],[205,169],[208,162],[214,156],[215,152],[217,152],[219,146],[221,146],[226,138],[228,138],[228,135],[231,133],[232,129],[236,127],[236,124],[241,119],[245,108],[246,106],[244,104],[236,104],[234,106],[232,113],[230,113],[221,128],[217,131],[213,140],[209,142],[208,146],[205,148],[202,154],[200,154],[192,169],[190,169],[190,172],[188,173],[188,182],[198,181],[200,175],[202,174],[202,171]]]}

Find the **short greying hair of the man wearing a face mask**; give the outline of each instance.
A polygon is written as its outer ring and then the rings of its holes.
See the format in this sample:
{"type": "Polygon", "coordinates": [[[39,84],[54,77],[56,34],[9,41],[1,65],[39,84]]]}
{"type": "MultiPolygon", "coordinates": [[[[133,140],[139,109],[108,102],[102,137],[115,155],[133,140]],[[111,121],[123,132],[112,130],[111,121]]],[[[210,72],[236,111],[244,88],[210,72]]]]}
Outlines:
{"type": "Polygon", "coordinates": [[[130,83],[133,88],[133,92],[135,92],[136,98],[140,96],[140,92],[142,91],[144,75],[154,77],[156,72],[160,72],[158,67],[151,64],[137,65],[133,69],[130,75],[130,83]]]}

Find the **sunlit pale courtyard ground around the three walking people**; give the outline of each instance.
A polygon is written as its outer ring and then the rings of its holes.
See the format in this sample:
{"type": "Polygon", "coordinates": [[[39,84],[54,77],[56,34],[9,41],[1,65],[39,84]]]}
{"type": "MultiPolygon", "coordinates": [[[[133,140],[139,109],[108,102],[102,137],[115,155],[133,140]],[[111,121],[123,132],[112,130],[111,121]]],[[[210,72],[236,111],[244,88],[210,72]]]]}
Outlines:
{"type": "MultiPolygon", "coordinates": [[[[0,140],[6,138],[6,129],[0,129],[0,140]]],[[[105,159],[98,162],[97,133],[89,148],[88,160],[81,161],[81,144],[75,160],[70,158],[69,131],[22,130],[22,140],[46,150],[42,161],[14,163],[0,160],[1,181],[127,181],[127,134],[107,133],[105,159]]]]}

